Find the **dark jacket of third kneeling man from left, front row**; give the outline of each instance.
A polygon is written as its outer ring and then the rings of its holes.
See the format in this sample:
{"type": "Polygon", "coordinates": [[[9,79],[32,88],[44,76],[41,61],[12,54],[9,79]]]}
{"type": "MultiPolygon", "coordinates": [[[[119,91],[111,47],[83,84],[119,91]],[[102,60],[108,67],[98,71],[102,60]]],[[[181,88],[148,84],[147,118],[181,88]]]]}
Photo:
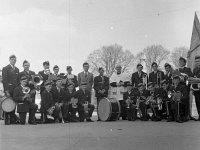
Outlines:
{"type": "Polygon", "coordinates": [[[51,93],[53,96],[54,103],[66,103],[70,101],[69,94],[67,94],[67,92],[64,91],[62,88],[60,89],[60,92],[59,92],[57,87],[53,87],[51,89],[51,93]]]}

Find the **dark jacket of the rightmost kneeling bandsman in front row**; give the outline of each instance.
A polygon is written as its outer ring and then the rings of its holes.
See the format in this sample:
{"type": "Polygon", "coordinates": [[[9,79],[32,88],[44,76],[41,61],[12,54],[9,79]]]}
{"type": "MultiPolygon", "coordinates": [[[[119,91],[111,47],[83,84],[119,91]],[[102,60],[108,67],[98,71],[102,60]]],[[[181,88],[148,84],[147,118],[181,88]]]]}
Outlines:
{"type": "Polygon", "coordinates": [[[178,86],[175,88],[175,86],[171,86],[169,91],[173,92],[181,92],[182,97],[181,97],[181,102],[187,104],[187,100],[189,99],[189,92],[187,90],[187,86],[179,83],[178,86]]]}

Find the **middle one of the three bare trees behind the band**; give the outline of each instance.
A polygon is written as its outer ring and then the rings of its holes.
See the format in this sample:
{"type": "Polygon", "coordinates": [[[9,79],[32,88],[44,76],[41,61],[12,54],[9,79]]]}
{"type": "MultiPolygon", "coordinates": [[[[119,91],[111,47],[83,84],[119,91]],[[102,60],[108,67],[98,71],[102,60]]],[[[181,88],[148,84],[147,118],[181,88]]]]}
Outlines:
{"type": "Polygon", "coordinates": [[[162,61],[167,59],[170,51],[162,45],[151,45],[143,50],[143,54],[145,57],[147,72],[151,72],[151,64],[156,62],[159,66],[162,61]]]}

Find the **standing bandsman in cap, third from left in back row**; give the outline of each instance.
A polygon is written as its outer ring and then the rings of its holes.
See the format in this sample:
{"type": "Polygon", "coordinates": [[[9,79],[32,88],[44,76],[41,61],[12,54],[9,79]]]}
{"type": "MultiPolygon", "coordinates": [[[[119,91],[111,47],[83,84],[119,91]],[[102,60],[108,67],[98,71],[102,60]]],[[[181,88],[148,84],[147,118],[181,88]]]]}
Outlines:
{"type": "Polygon", "coordinates": [[[45,61],[43,62],[43,67],[44,67],[44,70],[43,71],[39,71],[38,74],[40,74],[42,76],[42,80],[43,80],[43,83],[41,84],[41,90],[40,92],[42,93],[44,91],[44,83],[48,80],[49,78],[49,75],[51,74],[50,72],[50,64],[49,64],[49,61],[45,61]]]}

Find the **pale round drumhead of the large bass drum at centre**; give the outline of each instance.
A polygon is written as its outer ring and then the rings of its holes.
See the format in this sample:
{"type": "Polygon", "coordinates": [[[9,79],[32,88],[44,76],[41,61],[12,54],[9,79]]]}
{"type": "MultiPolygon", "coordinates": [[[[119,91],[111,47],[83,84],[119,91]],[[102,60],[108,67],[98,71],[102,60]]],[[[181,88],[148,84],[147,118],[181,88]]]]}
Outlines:
{"type": "Polygon", "coordinates": [[[107,121],[111,113],[111,104],[107,98],[103,98],[99,102],[98,114],[101,121],[107,121]]]}

